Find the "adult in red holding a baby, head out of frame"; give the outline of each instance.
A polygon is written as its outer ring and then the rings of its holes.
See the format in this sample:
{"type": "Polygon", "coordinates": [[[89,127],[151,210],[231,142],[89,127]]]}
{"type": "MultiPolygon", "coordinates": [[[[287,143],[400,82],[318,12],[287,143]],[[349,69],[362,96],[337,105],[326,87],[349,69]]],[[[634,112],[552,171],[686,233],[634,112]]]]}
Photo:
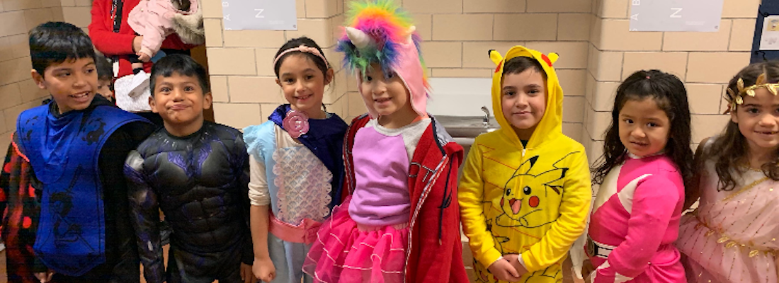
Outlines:
{"type": "MultiPolygon", "coordinates": [[[[130,28],[127,19],[130,11],[138,5],[141,0],[94,0],[92,3],[92,23],[90,23],[90,37],[98,51],[105,54],[106,57],[113,58],[118,62],[118,69],[115,66],[114,72],[117,79],[125,78],[132,74],[132,67],[129,59],[136,57],[136,52],[140,50],[143,37],[136,35],[136,32],[130,28]]],[[[162,42],[162,49],[165,53],[185,53],[189,54],[189,49],[194,45],[185,44],[175,33],[171,34],[162,42]]],[[[116,63],[115,63],[116,64],[116,63]]],[[[151,72],[151,62],[144,63],[143,69],[147,74],[151,72]]],[[[125,78],[129,79],[129,78],[125,78]]],[[[119,82],[117,83],[119,84],[119,82]]],[[[117,86],[118,87],[118,86],[117,86]]],[[[122,93],[117,89],[115,93],[118,100],[127,99],[127,93],[122,93]]],[[[136,104],[125,106],[122,101],[118,101],[122,109],[136,112],[143,117],[149,118],[155,124],[162,124],[159,115],[151,114],[148,109],[148,102],[145,99],[136,97],[136,104]]]]}

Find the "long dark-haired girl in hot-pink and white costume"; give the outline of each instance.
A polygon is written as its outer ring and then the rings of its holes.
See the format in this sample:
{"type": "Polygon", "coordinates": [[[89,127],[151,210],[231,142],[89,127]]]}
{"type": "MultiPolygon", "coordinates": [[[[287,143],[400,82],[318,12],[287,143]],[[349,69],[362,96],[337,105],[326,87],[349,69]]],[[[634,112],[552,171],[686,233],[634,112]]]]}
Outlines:
{"type": "Polygon", "coordinates": [[[612,125],[594,183],[585,250],[594,283],[685,282],[673,243],[685,180],[693,175],[684,84],[657,70],[630,75],[617,89],[612,125]]]}

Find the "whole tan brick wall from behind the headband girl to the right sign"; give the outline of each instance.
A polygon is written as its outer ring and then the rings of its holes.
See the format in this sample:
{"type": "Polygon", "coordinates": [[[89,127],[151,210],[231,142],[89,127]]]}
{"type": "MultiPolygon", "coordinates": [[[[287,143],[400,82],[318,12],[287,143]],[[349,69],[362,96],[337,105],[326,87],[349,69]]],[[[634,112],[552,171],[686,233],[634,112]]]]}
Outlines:
{"type": "MultiPolygon", "coordinates": [[[[333,45],[350,1],[298,1],[298,31],[224,31],[219,0],[204,0],[210,72],[220,84],[214,90],[217,121],[244,127],[265,121],[273,106],[284,103],[273,86],[271,61],[285,40],[312,37],[338,66],[340,54],[333,45]]],[[[590,159],[599,154],[616,86],[643,68],[660,68],[691,83],[693,122],[707,121],[693,123],[694,139],[716,133],[724,124],[717,115],[722,85],[749,61],[758,3],[725,0],[716,33],[638,33],[628,31],[629,2],[624,0],[402,1],[425,40],[423,54],[433,78],[488,78],[494,68],[489,49],[505,52],[521,44],[559,53],[555,68],[566,93],[563,129],[587,145],[590,159]]],[[[337,74],[325,103],[348,121],[365,107],[354,79],[340,70],[337,74]]]]}

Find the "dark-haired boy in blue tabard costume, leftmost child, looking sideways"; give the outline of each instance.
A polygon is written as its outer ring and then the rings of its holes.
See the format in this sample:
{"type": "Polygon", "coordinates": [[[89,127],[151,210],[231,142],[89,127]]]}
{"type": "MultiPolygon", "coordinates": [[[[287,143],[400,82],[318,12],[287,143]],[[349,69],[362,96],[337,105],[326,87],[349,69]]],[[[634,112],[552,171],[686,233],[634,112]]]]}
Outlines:
{"type": "Polygon", "coordinates": [[[95,53],[78,27],[33,28],[30,58],[53,99],[19,114],[12,140],[41,200],[33,272],[41,282],[138,282],[122,161],[152,125],[96,96],[95,53]]]}

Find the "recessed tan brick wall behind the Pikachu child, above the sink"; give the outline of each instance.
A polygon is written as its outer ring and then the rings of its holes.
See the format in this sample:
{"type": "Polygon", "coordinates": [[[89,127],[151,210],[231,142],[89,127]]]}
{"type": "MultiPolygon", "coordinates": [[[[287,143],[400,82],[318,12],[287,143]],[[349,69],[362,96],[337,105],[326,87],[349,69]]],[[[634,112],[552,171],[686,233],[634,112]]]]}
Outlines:
{"type": "MultiPolygon", "coordinates": [[[[524,45],[560,54],[555,68],[566,94],[563,131],[580,140],[593,1],[404,0],[403,6],[421,26],[432,78],[489,78],[495,68],[490,49],[504,53],[524,45]]],[[[434,89],[436,95],[442,94],[434,89]]]]}

